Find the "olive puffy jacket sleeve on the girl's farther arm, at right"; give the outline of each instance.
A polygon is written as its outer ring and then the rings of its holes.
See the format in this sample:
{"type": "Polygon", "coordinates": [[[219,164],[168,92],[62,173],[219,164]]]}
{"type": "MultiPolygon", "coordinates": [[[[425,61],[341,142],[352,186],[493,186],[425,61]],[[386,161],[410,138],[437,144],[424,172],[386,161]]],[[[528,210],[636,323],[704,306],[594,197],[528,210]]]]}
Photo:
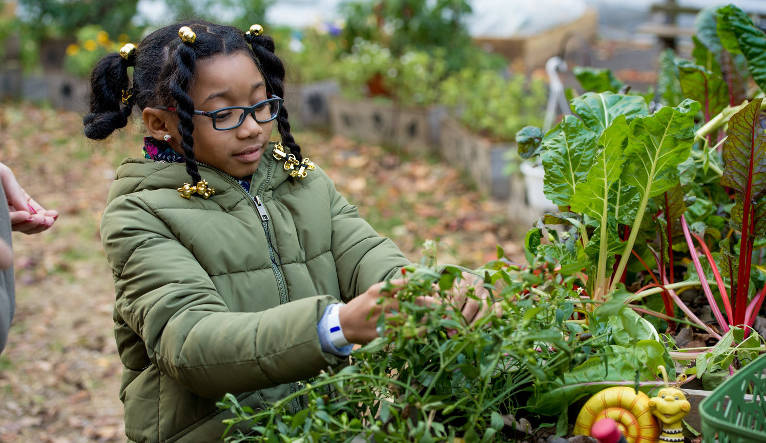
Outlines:
{"type": "Polygon", "coordinates": [[[332,196],[332,255],[344,301],[365,292],[375,283],[390,279],[411,262],[394,242],[382,237],[349,204],[328,178],[332,196]]]}

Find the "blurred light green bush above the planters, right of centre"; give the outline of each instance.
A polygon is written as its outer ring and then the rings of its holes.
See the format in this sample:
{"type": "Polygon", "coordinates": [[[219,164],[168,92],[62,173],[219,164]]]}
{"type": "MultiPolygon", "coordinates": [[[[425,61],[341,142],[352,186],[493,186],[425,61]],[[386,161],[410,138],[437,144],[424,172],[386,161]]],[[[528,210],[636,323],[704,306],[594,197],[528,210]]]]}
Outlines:
{"type": "Polygon", "coordinates": [[[506,78],[499,70],[466,67],[441,83],[439,96],[473,132],[511,141],[524,126],[542,124],[548,87],[522,74],[506,78]]]}

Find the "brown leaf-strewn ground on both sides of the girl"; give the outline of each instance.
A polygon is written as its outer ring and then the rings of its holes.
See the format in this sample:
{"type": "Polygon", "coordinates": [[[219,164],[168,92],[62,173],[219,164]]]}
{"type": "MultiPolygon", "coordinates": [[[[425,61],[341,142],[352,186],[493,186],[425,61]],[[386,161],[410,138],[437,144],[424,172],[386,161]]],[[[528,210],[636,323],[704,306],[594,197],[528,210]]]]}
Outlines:
{"type": "MultiPolygon", "coordinates": [[[[114,292],[98,224],[114,170],[139,155],[142,134],[129,125],[92,143],[80,119],[0,103],[0,161],[38,202],[61,213],[45,233],[14,233],[17,308],[0,355],[2,443],[126,441],[114,292]]],[[[412,260],[420,260],[424,239],[435,238],[445,245],[443,262],[477,267],[496,257],[497,245],[522,259],[508,209],[472,191],[455,168],[313,132],[297,138],[412,260]]]]}

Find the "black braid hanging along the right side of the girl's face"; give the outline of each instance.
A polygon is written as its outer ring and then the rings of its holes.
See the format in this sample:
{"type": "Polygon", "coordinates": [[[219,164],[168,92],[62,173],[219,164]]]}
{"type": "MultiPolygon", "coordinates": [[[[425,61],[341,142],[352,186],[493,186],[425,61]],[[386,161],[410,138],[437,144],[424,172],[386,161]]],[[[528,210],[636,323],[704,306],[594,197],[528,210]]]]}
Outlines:
{"type": "MultiPolygon", "coordinates": [[[[266,80],[267,89],[270,90],[270,93],[284,98],[285,67],[280,57],[274,54],[273,38],[254,33],[245,34],[245,38],[253,48],[253,53],[260,65],[260,72],[264,75],[264,80],[266,80]]],[[[300,145],[296,143],[295,138],[290,133],[290,121],[287,119],[287,109],[285,106],[281,107],[280,113],[277,116],[277,129],[282,136],[283,145],[290,148],[290,152],[295,155],[298,161],[303,160],[303,155],[300,153],[300,145]]]]}

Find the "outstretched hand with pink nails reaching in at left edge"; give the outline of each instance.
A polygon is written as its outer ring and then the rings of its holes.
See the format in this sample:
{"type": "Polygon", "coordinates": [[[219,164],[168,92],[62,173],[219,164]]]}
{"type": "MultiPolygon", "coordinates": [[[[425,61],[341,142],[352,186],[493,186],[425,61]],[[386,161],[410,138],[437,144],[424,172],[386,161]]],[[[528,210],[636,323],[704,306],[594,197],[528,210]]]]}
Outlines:
{"type": "Polygon", "coordinates": [[[46,210],[18,184],[11,168],[0,163],[0,181],[8,200],[8,213],[11,217],[11,229],[34,234],[47,230],[58,217],[55,210],[46,210]]]}

